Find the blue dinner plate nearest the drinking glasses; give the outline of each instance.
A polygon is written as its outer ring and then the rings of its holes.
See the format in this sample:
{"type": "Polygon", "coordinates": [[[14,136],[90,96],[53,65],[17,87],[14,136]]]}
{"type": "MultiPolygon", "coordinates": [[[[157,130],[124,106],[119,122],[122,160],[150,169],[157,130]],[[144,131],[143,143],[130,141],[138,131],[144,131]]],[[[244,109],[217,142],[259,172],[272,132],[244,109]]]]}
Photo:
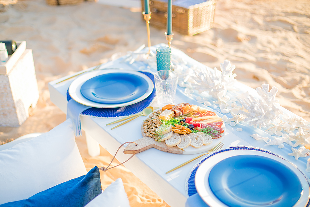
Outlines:
{"type": "Polygon", "coordinates": [[[121,104],[141,97],[147,90],[148,82],[138,75],[108,73],[85,81],[81,94],[96,103],[121,104]]]}

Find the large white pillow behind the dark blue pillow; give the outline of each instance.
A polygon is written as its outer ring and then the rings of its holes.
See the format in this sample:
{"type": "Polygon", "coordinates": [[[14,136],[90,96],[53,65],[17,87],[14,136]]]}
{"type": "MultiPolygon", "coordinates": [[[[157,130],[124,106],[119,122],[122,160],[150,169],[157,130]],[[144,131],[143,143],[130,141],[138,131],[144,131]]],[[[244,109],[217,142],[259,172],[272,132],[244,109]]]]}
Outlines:
{"type": "Polygon", "coordinates": [[[0,151],[0,204],[28,199],[86,173],[68,119],[47,133],[0,151]]]}

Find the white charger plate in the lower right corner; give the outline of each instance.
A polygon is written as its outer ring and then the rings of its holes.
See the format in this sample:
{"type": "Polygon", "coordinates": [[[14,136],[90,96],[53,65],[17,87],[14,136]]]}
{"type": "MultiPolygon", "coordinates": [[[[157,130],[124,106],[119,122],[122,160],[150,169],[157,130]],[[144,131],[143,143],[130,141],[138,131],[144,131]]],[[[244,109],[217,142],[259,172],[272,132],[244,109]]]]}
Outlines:
{"type": "Polygon", "coordinates": [[[206,159],[197,169],[195,175],[195,186],[197,189],[198,194],[200,195],[201,199],[206,202],[207,205],[212,207],[228,207],[224,203],[222,203],[211,191],[209,186],[209,174],[211,169],[215,166],[215,164],[219,163],[220,161],[236,156],[236,155],[260,155],[264,157],[268,157],[270,159],[276,160],[284,165],[286,165],[290,170],[292,170],[299,178],[300,182],[303,186],[303,194],[299,198],[298,202],[294,205],[294,207],[304,207],[308,204],[310,198],[310,188],[307,179],[303,176],[303,174],[295,168],[292,164],[287,162],[286,160],[281,159],[272,154],[268,154],[262,151],[255,151],[255,150],[231,150],[231,151],[224,151],[218,153],[216,155],[211,156],[210,158],[206,159]]]}

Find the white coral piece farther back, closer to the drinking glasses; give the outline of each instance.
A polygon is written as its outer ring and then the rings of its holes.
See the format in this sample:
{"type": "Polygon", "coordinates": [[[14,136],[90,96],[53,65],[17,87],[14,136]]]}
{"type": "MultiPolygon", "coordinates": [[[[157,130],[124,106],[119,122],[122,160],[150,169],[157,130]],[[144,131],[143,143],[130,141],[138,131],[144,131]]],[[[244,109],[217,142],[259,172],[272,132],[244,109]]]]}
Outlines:
{"type": "Polygon", "coordinates": [[[234,79],[237,75],[232,73],[235,70],[235,65],[231,65],[230,61],[225,60],[221,63],[220,70],[214,68],[214,70],[196,70],[195,76],[193,76],[193,87],[198,90],[199,93],[209,91],[209,94],[218,99],[223,98],[228,89],[233,89],[233,85],[236,82],[234,79]]]}

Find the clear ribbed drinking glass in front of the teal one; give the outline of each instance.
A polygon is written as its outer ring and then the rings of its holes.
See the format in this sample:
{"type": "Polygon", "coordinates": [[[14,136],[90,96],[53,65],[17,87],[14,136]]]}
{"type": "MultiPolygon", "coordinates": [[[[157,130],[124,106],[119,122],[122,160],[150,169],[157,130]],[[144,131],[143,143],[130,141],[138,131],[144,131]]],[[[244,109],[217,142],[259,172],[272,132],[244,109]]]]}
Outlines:
{"type": "Polygon", "coordinates": [[[173,70],[159,70],[154,74],[157,103],[161,106],[173,103],[178,85],[178,74],[173,70]]]}

